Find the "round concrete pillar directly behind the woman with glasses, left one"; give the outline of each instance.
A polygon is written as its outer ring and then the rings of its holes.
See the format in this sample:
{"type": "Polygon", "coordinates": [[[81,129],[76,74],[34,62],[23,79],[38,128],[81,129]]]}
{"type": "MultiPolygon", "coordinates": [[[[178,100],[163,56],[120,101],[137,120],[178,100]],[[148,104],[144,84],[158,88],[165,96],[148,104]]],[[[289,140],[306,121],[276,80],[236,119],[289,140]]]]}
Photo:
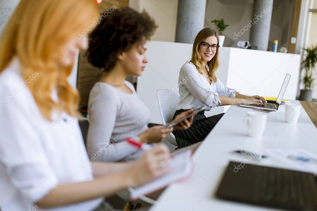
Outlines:
{"type": "Polygon", "coordinates": [[[204,28],[206,0],[179,0],[175,42],[194,43],[204,28]]]}

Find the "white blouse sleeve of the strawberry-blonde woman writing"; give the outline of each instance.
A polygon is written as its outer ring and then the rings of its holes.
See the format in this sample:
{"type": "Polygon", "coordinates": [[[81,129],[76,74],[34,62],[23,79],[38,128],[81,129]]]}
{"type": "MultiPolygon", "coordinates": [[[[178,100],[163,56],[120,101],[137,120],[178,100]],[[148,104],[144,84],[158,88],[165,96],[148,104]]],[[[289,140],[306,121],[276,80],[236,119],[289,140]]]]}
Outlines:
{"type": "MultiPolygon", "coordinates": [[[[1,99],[5,93],[0,91],[1,99]]],[[[45,154],[41,139],[45,132],[32,115],[36,106],[28,106],[35,103],[29,101],[19,93],[0,109],[1,122],[5,122],[0,127],[0,162],[18,192],[35,203],[56,187],[58,178],[45,154]]]]}

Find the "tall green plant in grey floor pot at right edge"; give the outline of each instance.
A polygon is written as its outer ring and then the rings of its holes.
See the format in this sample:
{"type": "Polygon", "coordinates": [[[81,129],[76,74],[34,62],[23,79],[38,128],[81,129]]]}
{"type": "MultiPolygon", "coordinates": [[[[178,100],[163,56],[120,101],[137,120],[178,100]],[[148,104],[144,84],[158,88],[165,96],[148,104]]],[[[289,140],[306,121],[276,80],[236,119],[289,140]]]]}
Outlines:
{"type": "Polygon", "coordinates": [[[317,62],[317,45],[310,48],[304,48],[303,50],[306,52],[306,54],[301,62],[301,70],[304,70],[304,76],[301,79],[303,89],[301,90],[299,99],[311,101],[315,81],[315,78],[313,77],[313,71],[317,62]]]}

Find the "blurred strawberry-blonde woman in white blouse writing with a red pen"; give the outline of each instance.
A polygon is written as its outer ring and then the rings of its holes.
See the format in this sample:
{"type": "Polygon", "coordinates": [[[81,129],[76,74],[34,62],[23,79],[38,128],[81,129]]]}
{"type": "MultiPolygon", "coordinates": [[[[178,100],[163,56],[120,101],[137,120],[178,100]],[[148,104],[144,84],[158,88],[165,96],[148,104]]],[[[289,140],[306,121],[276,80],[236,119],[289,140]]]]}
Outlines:
{"type": "Polygon", "coordinates": [[[92,27],[92,0],[21,0],[0,40],[1,210],[113,210],[103,197],[161,176],[169,150],[139,160],[93,162],[78,125],[77,90],[68,84],[78,33],[92,27]]]}

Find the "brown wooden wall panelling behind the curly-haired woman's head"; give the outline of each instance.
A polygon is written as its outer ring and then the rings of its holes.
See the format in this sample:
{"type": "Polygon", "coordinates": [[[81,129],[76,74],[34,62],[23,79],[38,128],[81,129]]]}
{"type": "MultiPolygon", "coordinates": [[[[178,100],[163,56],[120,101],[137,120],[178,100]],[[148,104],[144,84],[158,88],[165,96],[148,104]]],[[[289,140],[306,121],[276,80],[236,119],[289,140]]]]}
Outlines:
{"type": "MultiPolygon", "coordinates": [[[[117,8],[129,6],[129,0],[104,0],[99,6],[99,12],[104,13],[106,9],[115,5],[117,8]]],[[[90,65],[87,61],[86,51],[81,51],[78,58],[77,89],[80,95],[79,108],[85,108],[91,88],[100,79],[103,71],[90,65]]]]}

